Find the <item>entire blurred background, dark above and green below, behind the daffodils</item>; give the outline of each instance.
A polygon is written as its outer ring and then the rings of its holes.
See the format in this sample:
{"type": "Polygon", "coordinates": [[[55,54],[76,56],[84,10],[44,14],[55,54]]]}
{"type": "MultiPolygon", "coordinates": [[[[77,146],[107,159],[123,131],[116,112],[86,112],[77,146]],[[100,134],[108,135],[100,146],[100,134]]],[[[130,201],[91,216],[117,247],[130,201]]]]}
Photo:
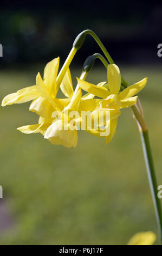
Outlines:
{"type": "MultiPolygon", "coordinates": [[[[140,93],[150,130],[158,185],[162,184],[162,4],[155,1],[1,3],[0,98],[35,84],[51,59],[66,59],[77,34],[99,35],[131,84],[148,76],[140,93]]],[[[70,69],[74,87],[85,59],[100,52],[90,36],[70,69]]],[[[106,80],[96,61],[87,81],[106,80]]],[[[138,127],[124,109],[111,143],[79,131],[77,147],[51,145],[16,127],[37,123],[30,103],[1,108],[0,244],[125,245],[138,231],[158,234],[138,127]]],[[[162,199],[161,199],[162,200],[162,199]]],[[[159,243],[159,238],[156,243],[159,243]]]]}

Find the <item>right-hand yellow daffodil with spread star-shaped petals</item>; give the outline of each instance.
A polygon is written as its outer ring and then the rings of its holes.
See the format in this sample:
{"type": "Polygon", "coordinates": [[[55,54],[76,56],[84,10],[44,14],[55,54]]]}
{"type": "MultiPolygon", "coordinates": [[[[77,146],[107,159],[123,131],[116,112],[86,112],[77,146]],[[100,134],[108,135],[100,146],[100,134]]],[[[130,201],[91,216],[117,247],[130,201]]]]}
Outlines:
{"type": "MultiPolygon", "coordinates": [[[[103,100],[99,101],[98,106],[102,109],[120,109],[133,106],[137,102],[138,97],[134,95],[139,93],[140,90],[145,87],[147,82],[147,78],[144,78],[140,82],[137,82],[120,92],[121,75],[118,66],[115,64],[108,65],[107,79],[109,89],[103,86],[95,86],[94,84],[77,78],[77,82],[83,90],[100,98],[103,98],[103,100]]],[[[99,111],[99,109],[96,109],[96,111],[99,111]]],[[[118,118],[111,120],[111,132],[106,137],[106,143],[110,142],[113,138],[117,124],[118,118]]],[[[99,136],[98,132],[95,131],[94,133],[94,135],[99,136]]]]}

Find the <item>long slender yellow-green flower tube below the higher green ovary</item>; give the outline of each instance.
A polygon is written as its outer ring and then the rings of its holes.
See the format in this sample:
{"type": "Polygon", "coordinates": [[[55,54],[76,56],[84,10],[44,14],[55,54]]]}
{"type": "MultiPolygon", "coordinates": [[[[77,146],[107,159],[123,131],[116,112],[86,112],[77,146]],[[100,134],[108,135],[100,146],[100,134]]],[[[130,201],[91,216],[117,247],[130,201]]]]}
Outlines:
{"type": "Polygon", "coordinates": [[[72,62],[76,52],[77,52],[77,49],[73,47],[72,50],[70,51],[66,61],[64,62],[62,69],[60,70],[59,75],[57,76],[57,88],[60,87],[63,77],[66,74],[66,71],[67,71],[70,63],[72,62]]]}

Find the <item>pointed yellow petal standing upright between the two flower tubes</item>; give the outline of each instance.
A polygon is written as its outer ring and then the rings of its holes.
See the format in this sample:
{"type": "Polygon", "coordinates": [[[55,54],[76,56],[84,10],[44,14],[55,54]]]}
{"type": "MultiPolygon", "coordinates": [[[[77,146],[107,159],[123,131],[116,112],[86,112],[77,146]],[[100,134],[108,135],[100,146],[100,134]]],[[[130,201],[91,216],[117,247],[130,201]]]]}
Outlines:
{"type": "Polygon", "coordinates": [[[63,77],[60,89],[66,97],[69,97],[70,99],[72,98],[74,90],[69,68],[67,69],[66,74],[63,77]]]}

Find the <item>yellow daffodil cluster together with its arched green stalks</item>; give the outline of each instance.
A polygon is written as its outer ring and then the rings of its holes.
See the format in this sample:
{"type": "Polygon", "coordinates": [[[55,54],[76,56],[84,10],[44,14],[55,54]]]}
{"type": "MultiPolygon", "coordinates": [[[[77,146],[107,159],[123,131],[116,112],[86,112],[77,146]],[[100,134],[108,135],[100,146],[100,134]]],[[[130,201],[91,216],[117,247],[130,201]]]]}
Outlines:
{"type": "Polygon", "coordinates": [[[123,81],[118,66],[113,63],[112,58],[98,36],[90,30],[83,31],[76,37],[73,48],[63,64],[59,75],[57,75],[59,62],[59,57],[51,60],[44,69],[43,79],[38,72],[36,85],[23,88],[16,93],[5,96],[2,106],[32,100],[29,110],[36,112],[40,116],[38,124],[25,125],[19,127],[18,130],[23,133],[40,132],[52,144],[61,144],[68,148],[76,147],[77,130],[80,127],[82,129],[83,126],[84,129],[82,130],[94,136],[105,137],[106,143],[110,142],[115,134],[118,118],[121,113],[120,109],[132,107],[137,102],[138,96],[136,94],[144,88],[147,78],[122,90],[121,85],[123,85],[123,81]],[[84,64],[85,66],[83,65],[80,78],[77,78],[77,86],[74,90],[69,65],[77,50],[81,48],[88,33],[98,42],[111,64],[108,64],[107,60],[99,53],[89,56],[84,64]],[[85,78],[92,69],[95,61],[94,58],[96,57],[100,58],[105,65],[108,81],[94,85],[86,82],[85,78]],[[59,88],[65,96],[63,99],[56,97],[59,88]],[[85,90],[87,94],[82,96],[82,90],[85,90]],[[90,113],[93,125],[89,126],[86,119],[83,120],[83,112],[90,113]],[[103,115],[102,120],[100,119],[101,112],[103,115]],[[75,113],[77,114],[75,115],[75,113]],[[65,120],[66,129],[63,126],[65,120]],[[85,122],[84,125],[82,125],[83,122],[85,122]],[[103,131],[108,132],[103,133],[103,131]]]}

